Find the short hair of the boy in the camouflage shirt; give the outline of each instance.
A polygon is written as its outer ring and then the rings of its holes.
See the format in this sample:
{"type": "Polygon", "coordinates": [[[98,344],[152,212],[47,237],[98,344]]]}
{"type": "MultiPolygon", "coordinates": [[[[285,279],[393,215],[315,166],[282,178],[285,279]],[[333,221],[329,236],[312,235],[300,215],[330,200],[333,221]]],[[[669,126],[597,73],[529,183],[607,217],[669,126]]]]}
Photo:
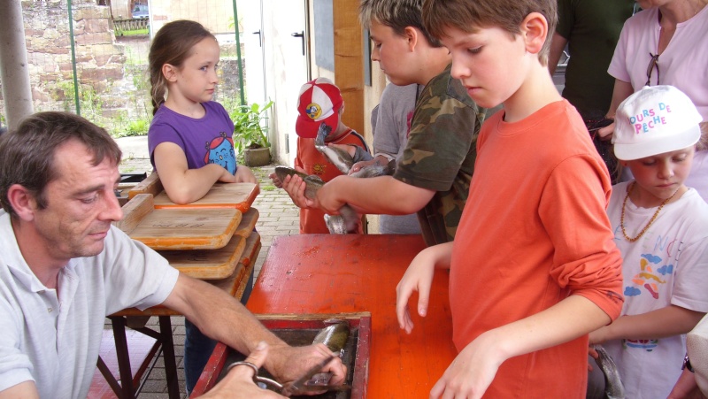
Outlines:
{"type": "Polygon", "coordinates": [[[418,28],[433,47],[443,44],[430,35],[423,25],[421,7],[423,0],[362,0],[359,4],[359,22],[368,29],[372,21],[391,27],[397,35],[404,35],[406,27],[418,28]]]}

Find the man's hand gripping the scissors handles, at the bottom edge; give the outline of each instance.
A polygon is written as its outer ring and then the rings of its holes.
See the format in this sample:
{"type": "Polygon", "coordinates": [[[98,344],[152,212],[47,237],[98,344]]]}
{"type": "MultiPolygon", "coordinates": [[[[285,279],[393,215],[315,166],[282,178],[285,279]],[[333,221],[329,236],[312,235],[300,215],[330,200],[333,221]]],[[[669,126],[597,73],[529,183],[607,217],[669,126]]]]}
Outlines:
{"type": "MultiPolygon", "coordinates": [[[[258,343],[256,349],[250,352],[249,357],[246,357],[246,362],[255,364],[256,367],[260,368],[265,362],[268,356],[268,345],[266,342],[261,341],[258,343]]],[[[238,365],[232,368],[226,376],[219,383],[216,384],[206,394],[202,397],[204,398],[246,398],[251,399],[254,397],[264,397],[264,398],[278,398],[285,397],[258,387],[253,382],[253,369],[248,365],[238,365]]]]}

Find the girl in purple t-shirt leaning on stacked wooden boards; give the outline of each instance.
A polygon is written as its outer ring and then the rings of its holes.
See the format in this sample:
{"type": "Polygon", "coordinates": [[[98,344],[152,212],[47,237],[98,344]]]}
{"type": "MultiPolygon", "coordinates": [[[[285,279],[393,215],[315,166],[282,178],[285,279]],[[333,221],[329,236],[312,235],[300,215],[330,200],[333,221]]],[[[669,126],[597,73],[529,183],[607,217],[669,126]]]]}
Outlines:
{"type": "Polygon", "coordinates": [[[197,22],[173,21],[155,35],[149,60],[155,116],[148,145],[167,196],[191,203],[217,181],[257,183],[248,167],[236,165],[234,123],[211,101],[219,82],[214,35],[197,22]]]}

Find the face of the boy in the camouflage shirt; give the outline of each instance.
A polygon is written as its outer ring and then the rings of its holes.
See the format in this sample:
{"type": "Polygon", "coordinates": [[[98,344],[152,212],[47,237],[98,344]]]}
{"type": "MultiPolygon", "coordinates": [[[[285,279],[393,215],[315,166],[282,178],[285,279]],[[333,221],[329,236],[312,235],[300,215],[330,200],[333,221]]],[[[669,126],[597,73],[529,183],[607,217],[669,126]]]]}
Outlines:
{"type": "Polygon", "coordinates": [[[379,22],[372,21],[370,27],[371,41],[373,43],[371,60],[377,61],[381,71],[386,73],[391,83],[405,86],[415,83],[409,75],[407,66],[415,65],[408,38],[397,35],[392,27],[387,27],[379,22]]]}

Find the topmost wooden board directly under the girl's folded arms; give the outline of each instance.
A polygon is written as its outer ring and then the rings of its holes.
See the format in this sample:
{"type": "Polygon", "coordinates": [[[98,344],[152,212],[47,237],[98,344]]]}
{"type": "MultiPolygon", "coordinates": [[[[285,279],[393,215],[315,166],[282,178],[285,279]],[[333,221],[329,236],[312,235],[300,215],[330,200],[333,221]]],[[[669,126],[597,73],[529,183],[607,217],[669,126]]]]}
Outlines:
{"type": "Polygon", "coordinates": [[[216,183],[201,199],[181,205],[170,201],[165,190],[162,190],[155,196],[155,208],[235,208],[245,212],[259,192],[258,184],[254,183],[216,183]]]}

